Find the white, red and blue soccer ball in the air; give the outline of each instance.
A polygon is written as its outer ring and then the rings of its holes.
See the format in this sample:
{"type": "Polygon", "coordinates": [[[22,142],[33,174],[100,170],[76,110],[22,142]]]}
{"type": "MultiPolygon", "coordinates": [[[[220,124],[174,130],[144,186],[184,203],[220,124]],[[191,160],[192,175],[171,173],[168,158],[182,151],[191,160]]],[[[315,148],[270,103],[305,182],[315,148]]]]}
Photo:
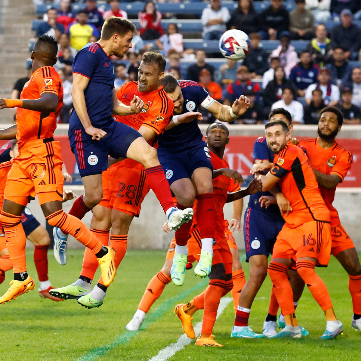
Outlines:
{"type": "Polygon", "coordinates": [[[222,55],[231,60],[242,60],[251,49],[248,35],[241,30],[227,30],[219,39],[219,50],[222,55]]]}

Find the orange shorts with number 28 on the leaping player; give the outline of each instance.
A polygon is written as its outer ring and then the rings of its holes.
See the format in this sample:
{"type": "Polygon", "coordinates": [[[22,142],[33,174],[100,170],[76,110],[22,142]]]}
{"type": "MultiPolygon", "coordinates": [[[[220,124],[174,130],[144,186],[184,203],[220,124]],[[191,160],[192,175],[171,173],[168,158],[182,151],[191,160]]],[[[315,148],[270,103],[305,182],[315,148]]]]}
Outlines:
{"type": "Polygon", "coordinates": [[[117,163],[103,172],[103,199],[100,205],[139,217],[140,206],[149,190],[144,169],[117,163]]]}

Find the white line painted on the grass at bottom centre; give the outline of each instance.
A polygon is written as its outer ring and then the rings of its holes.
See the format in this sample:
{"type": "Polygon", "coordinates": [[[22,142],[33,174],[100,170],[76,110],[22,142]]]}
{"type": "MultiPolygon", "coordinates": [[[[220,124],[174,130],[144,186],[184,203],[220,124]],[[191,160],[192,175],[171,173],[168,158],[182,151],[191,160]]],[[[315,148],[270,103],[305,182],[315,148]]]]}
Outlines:
{"type": "MultiPolygon", "coordinates": [[[[218,306],[217,318],[223,313],[227,305],[232,301],[231,297],[223,297],[218,306]]],[[[202,322],[198,322],[194,327],[194,332],[196,337],[200,334],[202,328],[202,322]]],[[[171,343],[167,347],[161,349],[158,352],[158,355],[150,358],[148,361],[165,361],[172,357],[178,351],[181,351],[185,346],[193,342],[192,339],[187,337],[186,334],[183,334],[177,342],[171,343]]]]}

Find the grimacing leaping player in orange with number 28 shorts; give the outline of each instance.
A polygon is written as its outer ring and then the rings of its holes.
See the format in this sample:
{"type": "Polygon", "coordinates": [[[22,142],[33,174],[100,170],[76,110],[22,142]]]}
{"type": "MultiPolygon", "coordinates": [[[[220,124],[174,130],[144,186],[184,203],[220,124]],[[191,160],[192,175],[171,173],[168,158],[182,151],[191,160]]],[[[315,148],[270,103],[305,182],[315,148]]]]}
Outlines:
{"type": "MultiPolygon", "coordinates": [[[[142,112],[117,116],[116,119],[138,130],[149,144],[153,144],[173,115],[173,101],[160,84],[165,64],[161,54],[144,53],[139,65],[138,82],[126,83],[117,91],[117,98],[123,104],[129,103],[134,96],[142,97],[145,103],[142,112]]],[[[193,117],[199,115],[189,113],[193,117]]],[[[144,166],[134,160],[119,161],[103,172],[103,199],[93,208],[90,226],[103,244],[108,244],[109,229],[112,228],[110,247],[116,251],[116,268],[126,252],[130,224],[134,217],[139,217],[142,201],[149,189],[144,166]]],[[[107,289],[101,279],[89,293],[97,266],[96,258],[86,250],[79,279],[69,286],[52,290],[52,294],[65,299],[78,299],[79,304],[88,308],[99,307],[103,304],[107,289]]]]}

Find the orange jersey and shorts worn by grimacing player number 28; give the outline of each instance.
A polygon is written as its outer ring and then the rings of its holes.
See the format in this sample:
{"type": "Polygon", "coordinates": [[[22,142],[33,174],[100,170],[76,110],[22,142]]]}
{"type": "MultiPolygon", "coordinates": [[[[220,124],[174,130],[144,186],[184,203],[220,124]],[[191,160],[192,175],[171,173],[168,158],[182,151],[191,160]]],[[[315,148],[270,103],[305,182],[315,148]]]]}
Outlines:
{"type": "MultiPolygon", "coordinates": [[[[161,134],[173,115],[173,101],[166,95],[163,87],[153,92],[139,92],[138,82],[126,83],[117,91],[117,98],[126,105],[130,104],[134,95],[144,101],[142,112],[116,116],[117,121],[136,130],[146,126],[156,135],[161,134]]],[[[150,143],[153,143],[153,140],[150,143]]],[[[100,205],[138,217],[140,206],[149,189],[144,166],[126,159],[103,172],[103,199],[100,205]]]]}

